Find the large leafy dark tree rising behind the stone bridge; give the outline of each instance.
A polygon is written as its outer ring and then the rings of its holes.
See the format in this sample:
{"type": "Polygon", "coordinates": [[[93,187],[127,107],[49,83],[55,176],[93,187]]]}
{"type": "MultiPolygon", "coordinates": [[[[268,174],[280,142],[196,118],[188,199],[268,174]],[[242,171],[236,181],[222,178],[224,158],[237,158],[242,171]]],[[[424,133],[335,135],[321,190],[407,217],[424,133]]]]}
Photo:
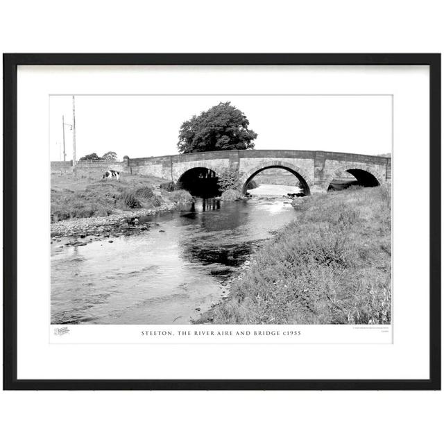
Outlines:
{"type": "Polygon", "coordinates": [[[246,150],[254,148],[257,134],[248,129],[246,115],[230,102],[221,102],[180,126],[180,153],[246,150]]]}

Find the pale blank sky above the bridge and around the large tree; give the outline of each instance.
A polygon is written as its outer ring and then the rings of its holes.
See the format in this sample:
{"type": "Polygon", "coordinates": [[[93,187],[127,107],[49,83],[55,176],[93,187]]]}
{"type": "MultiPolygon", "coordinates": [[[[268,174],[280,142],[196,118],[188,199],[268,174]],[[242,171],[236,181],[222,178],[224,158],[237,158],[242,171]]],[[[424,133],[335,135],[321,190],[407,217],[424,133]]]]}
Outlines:
{"type": "MultiPolygon", "coordinates": [[[[194,114],[230,101],[258,135],[255,149],[339,151],[377,155],[392,151],[391,96],[137,95],[75,97],[76,157],[115,151],[123,156],[178,154],[180,125],[194,114]]],[[[72,96],[50,96],[50,157],[62,157],[62,116],[73,121],[72,96]]],[[[67,160],[72,130],[65,126],[67,160]]]]}

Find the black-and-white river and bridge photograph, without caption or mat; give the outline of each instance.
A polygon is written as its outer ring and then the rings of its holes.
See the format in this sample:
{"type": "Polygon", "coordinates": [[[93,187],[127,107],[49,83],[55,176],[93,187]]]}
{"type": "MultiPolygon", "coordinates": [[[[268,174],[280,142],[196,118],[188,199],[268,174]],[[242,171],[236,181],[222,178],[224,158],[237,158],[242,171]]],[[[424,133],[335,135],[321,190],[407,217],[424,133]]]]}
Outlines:
{"type": "Polygon", "coordinates": [[[55,94],[49,124],[51,324],[391,325],[391,94],[55,94]]]}

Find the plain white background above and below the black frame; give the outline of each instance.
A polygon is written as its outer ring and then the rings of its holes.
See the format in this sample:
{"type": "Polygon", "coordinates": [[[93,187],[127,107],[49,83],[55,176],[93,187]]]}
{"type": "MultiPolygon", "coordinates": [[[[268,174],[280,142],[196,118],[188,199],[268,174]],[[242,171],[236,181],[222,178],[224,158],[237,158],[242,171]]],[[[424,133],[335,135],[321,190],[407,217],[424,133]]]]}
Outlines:
{"type": "MultiPolygon", "coordinates": [[[[2,52],[442,52],[442,2],[4,2],[2,52]]],[[[415,357],[412,357],[415,359],[415,357]]],[[[418,443],[443,436],[422,392],[0,394],[8,443],[418,443]]]]}

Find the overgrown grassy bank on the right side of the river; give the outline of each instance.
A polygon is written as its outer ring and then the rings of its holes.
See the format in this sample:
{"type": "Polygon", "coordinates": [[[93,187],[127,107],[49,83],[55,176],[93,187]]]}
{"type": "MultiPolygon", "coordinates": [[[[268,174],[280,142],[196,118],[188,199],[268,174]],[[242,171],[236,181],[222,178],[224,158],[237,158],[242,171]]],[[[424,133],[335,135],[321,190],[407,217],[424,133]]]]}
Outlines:
{"type": "Polygon", "coordinates": [[[295,207],[296,221],[253,257],[212,323],[390,323],[390,189],[353,187],[295,207]]]}

